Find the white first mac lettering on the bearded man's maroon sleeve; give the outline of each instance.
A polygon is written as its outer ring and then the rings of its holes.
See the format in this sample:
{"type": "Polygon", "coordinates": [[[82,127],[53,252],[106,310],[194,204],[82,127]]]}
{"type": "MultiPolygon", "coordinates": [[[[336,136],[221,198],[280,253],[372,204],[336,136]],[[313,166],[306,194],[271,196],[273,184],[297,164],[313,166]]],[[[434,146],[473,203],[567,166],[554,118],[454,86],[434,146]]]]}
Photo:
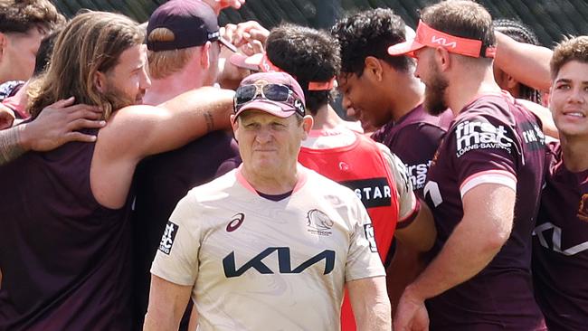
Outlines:
{"type": "Polygon", "coordinates": [[[474,149],[506,149],[513,146],[513,139],[506,136],[504,126],[495,127],[482,121],[463,121],[455,128],[457,156],[463,156],[474,149]]]}

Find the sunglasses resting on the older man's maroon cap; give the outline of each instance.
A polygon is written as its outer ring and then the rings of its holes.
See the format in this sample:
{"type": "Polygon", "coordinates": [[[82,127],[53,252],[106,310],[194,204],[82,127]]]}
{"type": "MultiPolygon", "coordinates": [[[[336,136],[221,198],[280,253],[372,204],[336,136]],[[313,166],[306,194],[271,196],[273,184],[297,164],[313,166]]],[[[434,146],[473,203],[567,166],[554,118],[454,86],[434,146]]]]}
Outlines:
{"type": "Polygon", "coordinates": [[[303,102],[288,85],[272,83],[265,85],[251,84],[240,86],[235,91],[233,105],[234,112],[236,113],[242,108],[242,106],[256,99],[281,102],[295,109],[301,117],[304,117],[305,115],[303,102]]]}

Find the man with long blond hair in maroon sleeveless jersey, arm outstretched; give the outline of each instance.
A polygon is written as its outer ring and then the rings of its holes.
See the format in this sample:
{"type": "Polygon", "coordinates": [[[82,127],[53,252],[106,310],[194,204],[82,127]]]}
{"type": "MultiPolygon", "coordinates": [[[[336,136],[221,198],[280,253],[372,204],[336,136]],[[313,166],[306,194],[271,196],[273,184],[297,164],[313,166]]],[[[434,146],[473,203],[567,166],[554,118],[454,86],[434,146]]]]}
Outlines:
{"type": "Polygon", "coordinates": [[[33,117],[71,96],[100,107],[107,124],[95,143],[29,152],[0,167],[0,199],[12,202],[0,205],[0,329],[130,328],[135,167],[145,156],[228,126],[233,94],[210,88],[158,108],[138,105],[150,85],[143,40],[126,16],[79,14],[31,85],[33,117]]]}

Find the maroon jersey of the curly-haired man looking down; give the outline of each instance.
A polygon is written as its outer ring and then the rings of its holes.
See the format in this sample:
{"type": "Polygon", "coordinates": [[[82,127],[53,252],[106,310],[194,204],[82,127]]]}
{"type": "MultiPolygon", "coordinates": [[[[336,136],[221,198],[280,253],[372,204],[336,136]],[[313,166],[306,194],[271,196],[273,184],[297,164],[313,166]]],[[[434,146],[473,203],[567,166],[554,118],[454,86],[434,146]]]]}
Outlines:
{"type": "Polygon", "coordinates": [[[419,105],[372,135],[375,141],[390,148],[392,153],[403,160],[413,183],[414,193],[421,198],[432,156],[449,128],[451,118],[453,114],[450,110],[435,117],[419,105]]]}

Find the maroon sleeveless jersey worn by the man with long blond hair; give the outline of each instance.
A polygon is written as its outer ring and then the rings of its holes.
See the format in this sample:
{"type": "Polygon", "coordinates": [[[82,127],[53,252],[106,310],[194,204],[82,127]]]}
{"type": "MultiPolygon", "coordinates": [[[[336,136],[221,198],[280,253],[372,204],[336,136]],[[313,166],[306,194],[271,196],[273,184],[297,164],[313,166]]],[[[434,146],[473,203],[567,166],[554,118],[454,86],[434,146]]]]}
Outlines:
{"type": "Polygon", "coordinates": [[[0,330],[129,329],[130,203],[94,198],[94,146],[0,166],[0,330]]]}

